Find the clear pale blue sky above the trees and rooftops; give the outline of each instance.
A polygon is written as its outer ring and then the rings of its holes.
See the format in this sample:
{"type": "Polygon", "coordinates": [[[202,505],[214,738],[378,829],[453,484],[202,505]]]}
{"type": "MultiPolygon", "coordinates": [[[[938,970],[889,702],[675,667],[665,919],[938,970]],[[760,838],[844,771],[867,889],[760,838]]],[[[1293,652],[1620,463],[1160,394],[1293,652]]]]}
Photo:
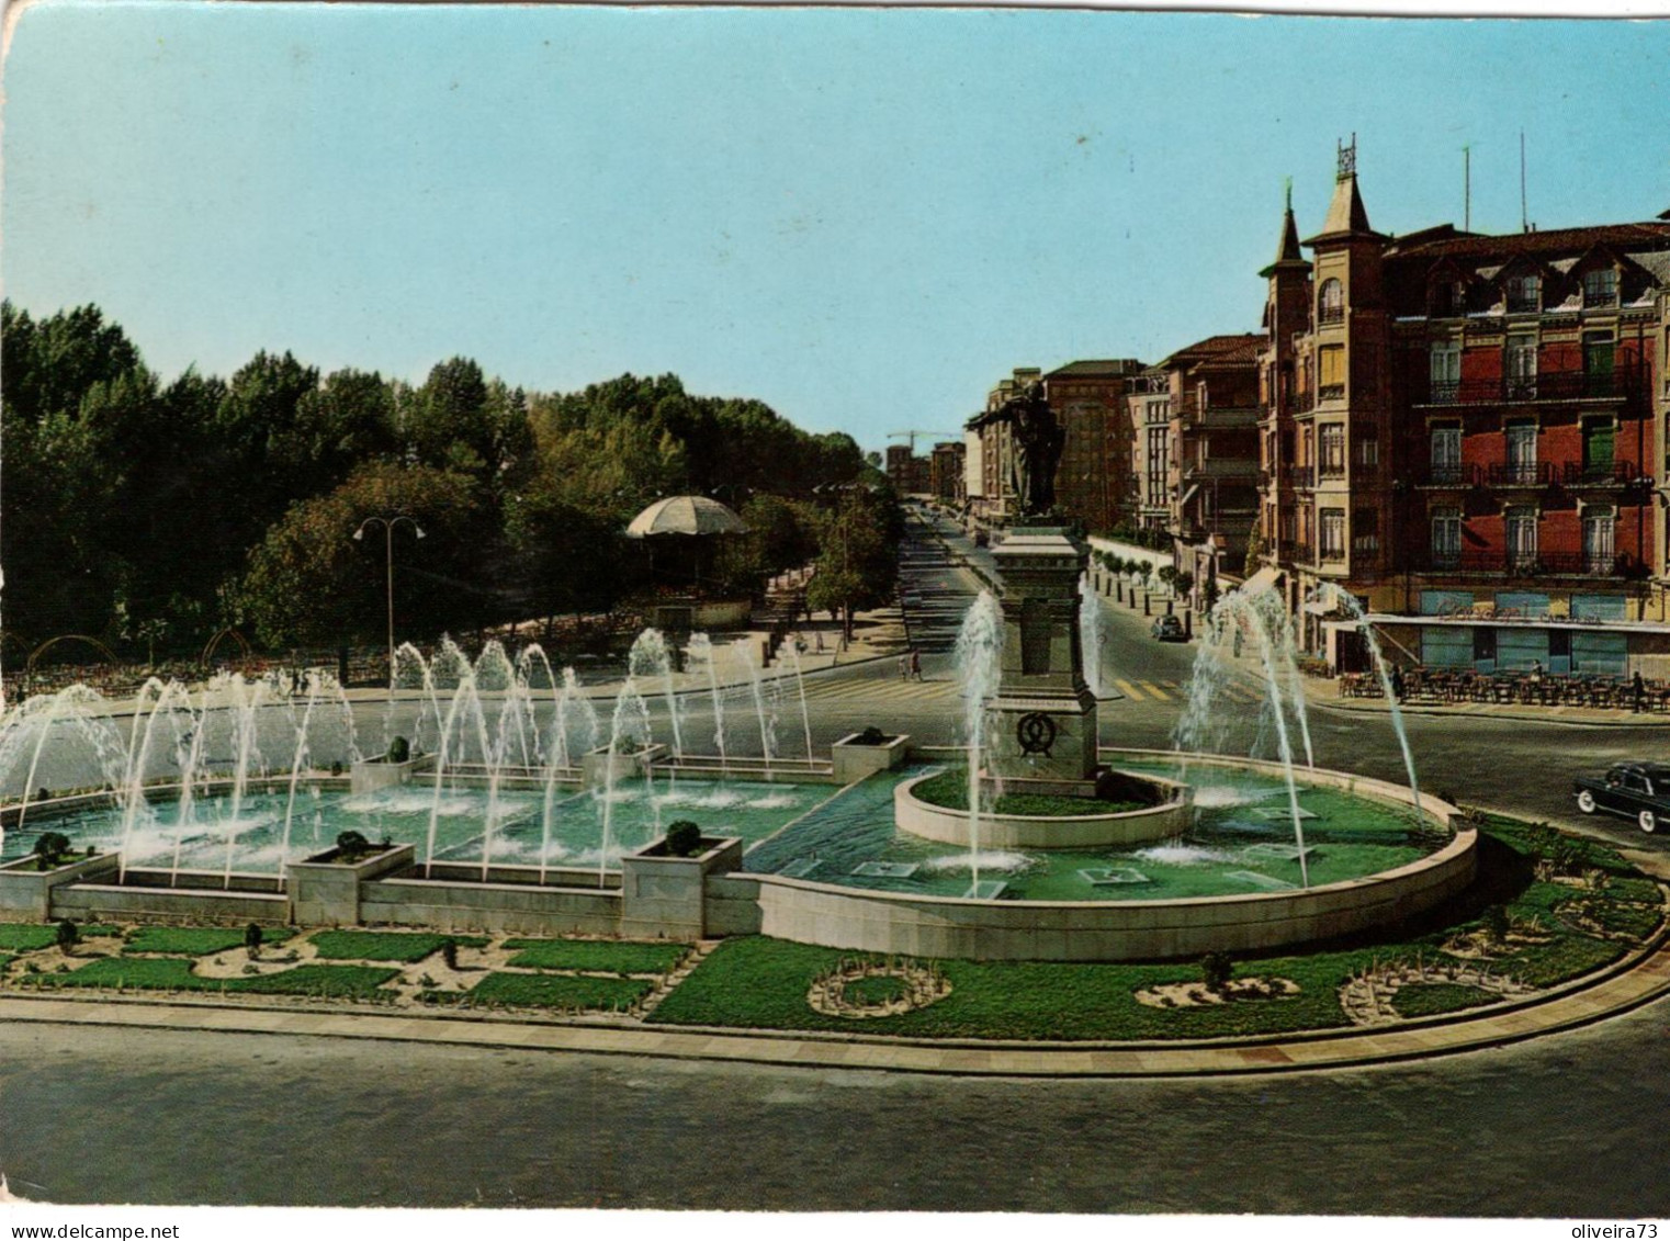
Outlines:
{"type": "Polygon", "coordinates": [[[1670,207],[1670,25],[1062,10],[47,0],[5,62],[0,276],[149,364],[531,389],[675,371],[880,448],[1014,366],[1256,331],[1321,227],[1670,207]]]}

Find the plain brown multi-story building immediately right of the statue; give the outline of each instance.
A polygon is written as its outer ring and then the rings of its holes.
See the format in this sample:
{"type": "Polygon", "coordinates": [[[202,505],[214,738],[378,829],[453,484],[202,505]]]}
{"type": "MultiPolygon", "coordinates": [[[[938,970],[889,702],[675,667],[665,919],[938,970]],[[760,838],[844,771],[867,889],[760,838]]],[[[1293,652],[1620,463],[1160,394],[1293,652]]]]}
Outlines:
{"type": "Polygon", "coordinates": [[[1127,393],[1142,371],[1134,357],[1067,362],[1044,376],[1044,396],[1067,433],[1055,469],[1055,503],[1094,533],[1127,519],[1131,424],[1127,393]]]}

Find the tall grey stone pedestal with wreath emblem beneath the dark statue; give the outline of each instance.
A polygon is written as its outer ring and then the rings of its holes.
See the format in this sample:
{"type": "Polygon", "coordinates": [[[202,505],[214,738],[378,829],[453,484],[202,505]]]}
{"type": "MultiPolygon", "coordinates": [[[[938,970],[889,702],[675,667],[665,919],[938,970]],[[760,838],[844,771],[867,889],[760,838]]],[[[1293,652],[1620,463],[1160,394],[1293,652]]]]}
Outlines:
{"type": "Polygon", "coordinates": [[[1079,646],[1089,551],[1064,526],[1039,524],[1014,528],[992,558],[1004,578],[1004,671],[987,708],[987,770],[1007,790],[1086,795],[1097,767],[1079,646]]]}

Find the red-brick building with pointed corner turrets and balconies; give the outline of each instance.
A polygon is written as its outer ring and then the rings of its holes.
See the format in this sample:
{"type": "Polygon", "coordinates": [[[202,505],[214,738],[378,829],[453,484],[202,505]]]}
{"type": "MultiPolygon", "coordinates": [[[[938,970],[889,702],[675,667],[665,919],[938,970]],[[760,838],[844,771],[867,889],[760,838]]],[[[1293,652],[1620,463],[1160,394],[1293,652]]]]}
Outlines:
{"type": "Polygon", "coordinates": [[[1374,232],[1341,147],[1291,207],[1261,356],[1261,545],[1304,643],[1361,656],[1338,588],[1426,665],[1670,671],[1670,222],[1374,232]]]}

